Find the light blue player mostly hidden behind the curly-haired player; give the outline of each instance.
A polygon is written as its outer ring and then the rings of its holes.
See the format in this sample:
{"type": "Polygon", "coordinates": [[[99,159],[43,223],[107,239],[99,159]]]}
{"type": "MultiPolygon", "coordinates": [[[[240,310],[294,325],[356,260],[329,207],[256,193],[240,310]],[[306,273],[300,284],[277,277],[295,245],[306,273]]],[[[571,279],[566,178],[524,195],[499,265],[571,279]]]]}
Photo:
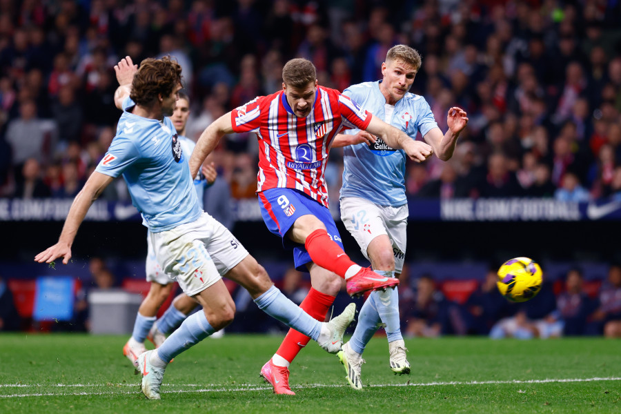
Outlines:
{"type": "MultiPolygon", "coordinates": [[[[121,108],[119,108],[121,109],[121,108]]],[[[175,126],[181,143],[181,150],[184,154],[191,154],[194,150],[195,143],[192,139],[186,137],[186,124],[190,116],[190,99],[182,90],[179,91],[179,100],[175,104],[175,110],[172,111],[170,121],[175,126]]],[[[186,161],[190,157],[185,157],[186,161]]],[[[205,187],[213,184],[217,176],[213,163],[204,164],[201,173],[194,179],[194,188],[197,198],[203,210],[203,195],[205,187]]],[[[156,348],[164,343],[166,335],[173,331],[184,319],[192,312],[197,302],[188,297],[185,293],[181,293],[175,297],[172,304],[166,309],[166,313],[157,321],[155,317],[159,308],[166,302],[168,295],[175,286],[174,279],[161,269],[155,257],[155,251],[151,243],[151,238],[147,237],[147,258],[145,264],[146,279],[150,282],[148,295],[142,301],[136,320],[132,336],[123,347],[123,355],[125,355],[132,363],[135,363],[141,353],[146,352],[144,346],[145,339],[149,339],[156,348]]],[[[222,331],[218,331],[219,333],[222,331]]]]}

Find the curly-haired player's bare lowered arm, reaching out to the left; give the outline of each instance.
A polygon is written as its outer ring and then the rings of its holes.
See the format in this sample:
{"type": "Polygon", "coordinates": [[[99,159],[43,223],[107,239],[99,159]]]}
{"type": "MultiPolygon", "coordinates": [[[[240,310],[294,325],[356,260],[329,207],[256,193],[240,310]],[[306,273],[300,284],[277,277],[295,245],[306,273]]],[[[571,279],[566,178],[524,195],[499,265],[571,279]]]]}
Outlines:
{"type": "Polygon", "coordinates": [[[73,244],[73,240],[75,239],[75,235],[80,224],[82,223],[84,217],[86,217],[88,208],[90,208],[92,202],[99,197],[103,189],[106,188],[110,182],[112,182],[112,179],[114,178],[101,174],[97,171],[93,172],[90,177],[88,177],[86,184],[84,184],[83,188],[80,190],[78,195],[75,196],[75,199],[71,204],[69,214],[67,215],[67,219],[65,220],[65,224],[57,244],[48,247],[46,250],[43,250],[41,253],[36,255],[34,257],[35,262],[51,263],[59,257],[64,257],[63,263],[69,263],[69,259],[71,259],[71,246],[73,244]]]}

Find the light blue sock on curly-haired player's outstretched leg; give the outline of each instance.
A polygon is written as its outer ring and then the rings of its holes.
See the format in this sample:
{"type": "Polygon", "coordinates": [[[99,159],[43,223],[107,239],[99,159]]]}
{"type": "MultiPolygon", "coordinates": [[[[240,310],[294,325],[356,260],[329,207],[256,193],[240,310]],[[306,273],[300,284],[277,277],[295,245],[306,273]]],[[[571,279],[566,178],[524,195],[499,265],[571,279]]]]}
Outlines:
{"type": "Polygon", "coordinates": [[[311,315],[302,311],[296,304],[283,295],[276,286],[272,286],[266,293],[255,299],[259,309],[283,322],[289,328],[310,337],[314,341],[319,337],[322,323],[313,319],[311,315]]]}

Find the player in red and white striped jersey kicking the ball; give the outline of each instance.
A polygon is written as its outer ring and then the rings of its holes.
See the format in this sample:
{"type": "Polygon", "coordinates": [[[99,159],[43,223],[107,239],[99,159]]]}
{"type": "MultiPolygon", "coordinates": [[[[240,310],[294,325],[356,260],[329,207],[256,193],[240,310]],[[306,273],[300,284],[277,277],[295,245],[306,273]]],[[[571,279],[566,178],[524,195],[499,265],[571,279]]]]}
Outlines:
{"type": "MultiPolygon", "coordinates": [[[[393,148],[402,148],[414,161],[431,156],[431,146],[414,141],[337,90],[317,85],[315,66],[306,59],[292,59],[283,68],[282,90],[257,97],[228,112],[203,132],[190,158],[195,174],[219,139],[233,132],[255,132],[259,139],[257,194],[268,229],[293,249],[298,270],[311,273],[311,291],[300,304],[309,315],[324,320],[346,279],[347,293],[393,288],[393,277],[361,268],[344,253],[341,237],[328,210],[324,179],[331,146],[344,128],[367,130],[393,148]]],[[[275,393],[294,394],[288,385],[288,366],[308,343],[308,337],[289,331],[277,353],[261,370],[275,393]]]]}

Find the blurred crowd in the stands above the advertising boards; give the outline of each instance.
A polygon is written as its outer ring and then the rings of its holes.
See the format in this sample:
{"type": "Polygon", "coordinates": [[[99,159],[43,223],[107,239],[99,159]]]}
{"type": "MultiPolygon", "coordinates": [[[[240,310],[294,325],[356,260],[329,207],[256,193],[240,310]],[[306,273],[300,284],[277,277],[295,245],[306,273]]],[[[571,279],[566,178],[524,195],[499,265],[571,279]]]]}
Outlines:
{"type": "MultiPolygon", "coordinates": [[[[119,57],[179,61],[197,139],[279,90],[290,58],[343,90],[380,79],[405,43],[440,128],[451,106],[470,118],[450,162],[408,166],[408,195],[621,199],[620,19],[612,0],[0,1],[0,196],[76,195],[115,135],[119,57]]],[[[254,137],[228,137],[214,161],[231,197],[255,197],[254,137]]],[[[103,197],[128,195],[119,182],[103,197]]]]}

